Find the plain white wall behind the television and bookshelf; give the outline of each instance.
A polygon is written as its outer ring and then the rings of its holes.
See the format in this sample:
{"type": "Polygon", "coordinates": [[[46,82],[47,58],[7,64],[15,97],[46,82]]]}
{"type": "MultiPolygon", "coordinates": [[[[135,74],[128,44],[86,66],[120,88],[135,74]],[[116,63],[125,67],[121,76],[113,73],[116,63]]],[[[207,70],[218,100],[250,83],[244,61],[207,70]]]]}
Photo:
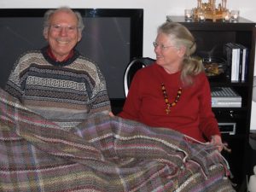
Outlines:
{"type": "MultiPolygon", "coordinates": [[[[166,15],[183,15],[184,9],[195,8],[197,1],[188,0],[1,0],[0,8],[141,8],[144,9],[143,55],[154,57],[152,42],[157,26],[166,20],[166,15]]],[[[203,0],[202,2],[207,2],[203,0]]],[[[217,0],[221,3],[221,0],[217,0]]],[[[239,9],[240,15],[256,22],[255,0],[228,0],[228,9],[239,9]]],[[[256,70],[255,70],[256,71],[256,70]]],[[[256,74],[256,73],[254,73],[256,74]]],[[[256,115],[256,102],[253,102],[252,117],[256,115]]],[[[256,119],[252,118],[251,129],[256,130],[256,119]]]]}

